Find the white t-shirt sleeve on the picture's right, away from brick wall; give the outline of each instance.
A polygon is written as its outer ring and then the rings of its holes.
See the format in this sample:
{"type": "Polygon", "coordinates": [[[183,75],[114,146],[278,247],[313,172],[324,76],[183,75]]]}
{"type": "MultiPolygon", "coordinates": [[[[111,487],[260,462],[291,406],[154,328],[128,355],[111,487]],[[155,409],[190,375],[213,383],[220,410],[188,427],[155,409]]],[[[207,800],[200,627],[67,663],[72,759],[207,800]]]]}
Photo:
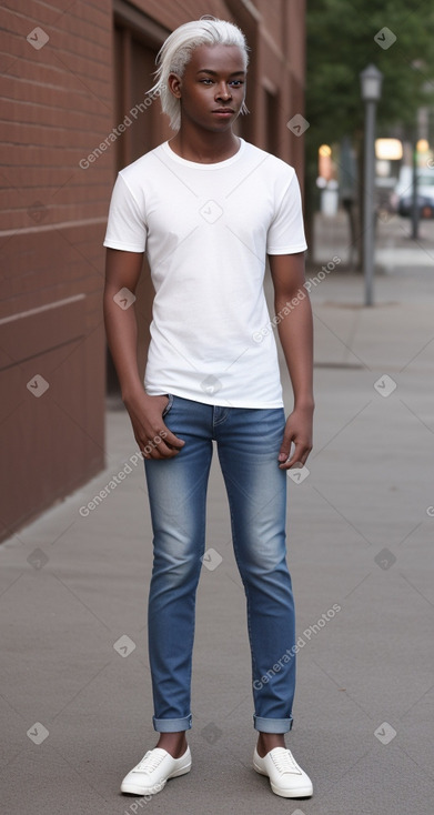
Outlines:
{"type": "Polygon", "coordinates": [[[293,172],[266,235],[268,254],[294,254],[307,249],[299,179],[293,172]]]}

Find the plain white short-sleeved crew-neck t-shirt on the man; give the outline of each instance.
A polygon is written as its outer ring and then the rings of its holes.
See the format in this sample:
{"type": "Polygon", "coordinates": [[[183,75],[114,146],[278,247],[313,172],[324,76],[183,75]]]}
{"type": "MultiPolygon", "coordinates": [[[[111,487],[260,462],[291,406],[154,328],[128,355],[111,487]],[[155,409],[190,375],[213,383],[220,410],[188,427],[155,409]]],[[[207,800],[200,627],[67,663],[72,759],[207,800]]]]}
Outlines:
{"type": "Polygon", "coordinates": [[[119,173],[104,246],[145,251],[150,263],[147,393],[283,405],[274,330],[258,338],[270,324],[266,253],[306,249],[292,167],[243,139],[214,164],[182,159],[164,142],[119,173]]]}

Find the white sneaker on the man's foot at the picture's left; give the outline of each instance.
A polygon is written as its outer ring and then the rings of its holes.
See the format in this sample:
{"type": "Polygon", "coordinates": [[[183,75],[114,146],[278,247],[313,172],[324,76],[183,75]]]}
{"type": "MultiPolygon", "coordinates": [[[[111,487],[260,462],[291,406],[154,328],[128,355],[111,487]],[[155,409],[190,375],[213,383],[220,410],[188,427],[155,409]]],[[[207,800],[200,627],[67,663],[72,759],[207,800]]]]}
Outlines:
{"type": "Polygon", "coordinates": [[[190,747],[181,758],[173,758],[165,749],[149,749],[137,767],[125,775],[121,793],[132,795],[155,795],[164,789],[168,778],[184,775],[191,769],[190,747]]]}

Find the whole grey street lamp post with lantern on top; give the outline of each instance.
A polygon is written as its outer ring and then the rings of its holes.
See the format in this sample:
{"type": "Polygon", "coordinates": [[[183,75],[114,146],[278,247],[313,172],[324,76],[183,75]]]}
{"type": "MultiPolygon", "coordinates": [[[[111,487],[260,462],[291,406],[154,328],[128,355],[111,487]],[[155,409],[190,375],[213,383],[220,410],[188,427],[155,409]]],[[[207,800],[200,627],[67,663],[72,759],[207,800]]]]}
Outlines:
{"type": "Polygon", "coordinates": [[[362,99],[365,103],[365,178],[363,195],[363,266],[365,305],[373,304],[374,278],[374,200],[375,200],[375,113],[381,98],[383,74],[370,64],[360,74],[362,99]]]}

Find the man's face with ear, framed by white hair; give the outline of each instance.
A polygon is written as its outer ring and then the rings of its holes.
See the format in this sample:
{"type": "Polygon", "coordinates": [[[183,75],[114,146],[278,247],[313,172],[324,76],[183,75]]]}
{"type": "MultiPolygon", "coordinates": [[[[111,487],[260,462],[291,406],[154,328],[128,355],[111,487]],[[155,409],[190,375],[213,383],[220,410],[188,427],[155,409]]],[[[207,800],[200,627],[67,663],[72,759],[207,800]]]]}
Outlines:
{"type": "Polygon", "coordinates": [[[181,117],[213,132],[231,128],[245,97],[244,57],[238,46],[199,46],[182,79],[169,77],[181,117]]]}

